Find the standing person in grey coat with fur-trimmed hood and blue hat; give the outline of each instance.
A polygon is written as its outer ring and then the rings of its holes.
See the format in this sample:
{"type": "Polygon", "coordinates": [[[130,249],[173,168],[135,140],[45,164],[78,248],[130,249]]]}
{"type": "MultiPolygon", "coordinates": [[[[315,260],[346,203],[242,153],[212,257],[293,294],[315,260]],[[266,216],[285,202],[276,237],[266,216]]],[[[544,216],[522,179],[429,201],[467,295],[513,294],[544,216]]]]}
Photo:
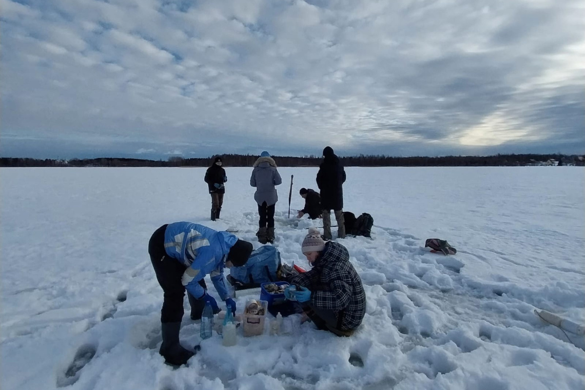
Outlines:
{"type": "Polygon", "coordinates": [[[260,214],[256,236],[261,244],[266,244],[274,241],[274,208],[278,201],[274,186],[280,185],[283,180],[278,173],[276,163],[267,151],[260,154],[253,166],[250,185],[256,187],[254,201],[258,203],[260,214]]]}

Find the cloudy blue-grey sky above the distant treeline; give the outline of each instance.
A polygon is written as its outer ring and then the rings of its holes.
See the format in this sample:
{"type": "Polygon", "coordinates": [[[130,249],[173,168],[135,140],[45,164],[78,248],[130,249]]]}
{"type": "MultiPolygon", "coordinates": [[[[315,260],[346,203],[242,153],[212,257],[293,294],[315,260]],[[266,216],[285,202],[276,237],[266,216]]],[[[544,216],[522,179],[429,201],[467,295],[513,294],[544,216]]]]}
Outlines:
{"type": "Polygon", "coordinates": [[[0,0],[3,157],[585,153],[585,0],[0,0]]]}

